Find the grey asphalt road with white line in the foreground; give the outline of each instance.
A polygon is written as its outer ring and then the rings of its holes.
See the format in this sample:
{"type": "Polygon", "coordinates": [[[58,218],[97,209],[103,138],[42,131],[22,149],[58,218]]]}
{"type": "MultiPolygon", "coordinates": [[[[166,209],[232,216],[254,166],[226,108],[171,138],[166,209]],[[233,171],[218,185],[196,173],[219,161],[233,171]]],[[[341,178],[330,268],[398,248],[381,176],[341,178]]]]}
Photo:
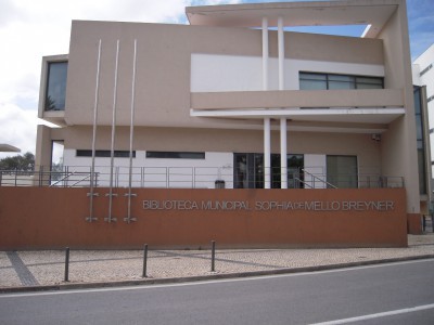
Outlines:
{"type": "Polygon", "coordinates": [[[434,260],[178,285],[0,295],[0,324],[323,322],[434,324],[434,260]]]}

